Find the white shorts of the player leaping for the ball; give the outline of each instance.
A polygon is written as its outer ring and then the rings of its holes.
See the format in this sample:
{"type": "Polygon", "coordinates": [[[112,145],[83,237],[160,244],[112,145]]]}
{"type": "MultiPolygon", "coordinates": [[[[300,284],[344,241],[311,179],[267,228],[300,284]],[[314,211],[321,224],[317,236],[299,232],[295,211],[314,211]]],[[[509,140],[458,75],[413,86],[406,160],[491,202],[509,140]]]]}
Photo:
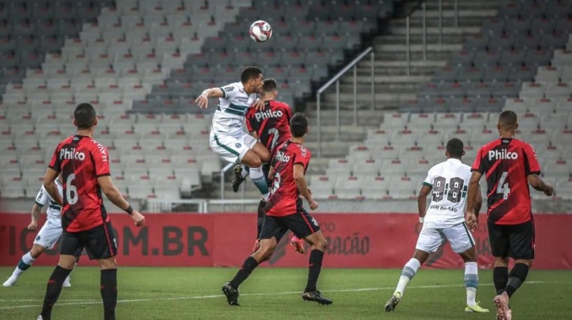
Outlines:
{"type": "Polygon", "coordinates": [[[256,142],[255,137],[245,132],[240,136],[231,136],[210,131],[210,148],[231,163],[240,163],[246,151],[254,147],[256,142]]]}

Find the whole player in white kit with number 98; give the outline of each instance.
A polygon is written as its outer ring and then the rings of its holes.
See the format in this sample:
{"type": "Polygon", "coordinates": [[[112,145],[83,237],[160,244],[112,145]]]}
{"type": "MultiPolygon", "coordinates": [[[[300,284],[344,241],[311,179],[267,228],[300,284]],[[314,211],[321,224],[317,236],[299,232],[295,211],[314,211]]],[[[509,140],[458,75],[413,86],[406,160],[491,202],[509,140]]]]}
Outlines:
{"type": "MultiPolygon", "coordinates": [[[[431,252],[436,252],[445,240],[448,240],[454,252],[465,262],[466,305],[465,312],[489,312],[476,302],[478,287],[477,254],[475,240],[465,224],[464,208],[466,190],[471,177],[471,167],[461,162],[463,142],[453,138],[447,142],[445,155],[447,160],[429,169],[422,183],[417,205],[420,222],[423,227],[415,245],[415,252],[401,271],[401,277],[394,294],[387,303],[385,311],[391,312],[403,297],[407,284],[417,273],[431,252]],[[427,208],[427,195],[431,194],[431,203],[427,208]]],[[[478,185],[477,185],[478,188],[478,185]]],[[[480,192],[471,204],[476,214],[480,211],[482,199],[480,192]]]]}

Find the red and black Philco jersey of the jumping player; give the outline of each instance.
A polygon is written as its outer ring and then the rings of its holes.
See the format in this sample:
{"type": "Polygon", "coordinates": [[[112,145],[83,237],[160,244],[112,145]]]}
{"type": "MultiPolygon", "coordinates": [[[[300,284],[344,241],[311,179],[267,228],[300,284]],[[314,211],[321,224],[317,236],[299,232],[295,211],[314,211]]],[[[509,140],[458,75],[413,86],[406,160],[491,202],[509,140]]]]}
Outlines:
{"type": "Polygon", "coordinates": [[[290,134],[290,118],[292,109],[284,102],[269,100],[264,102],[264,109],[248,109],[246,127],[248,132],[256,131],[258,139],[271,155],[280,144],[287,142],[290,134]]]}

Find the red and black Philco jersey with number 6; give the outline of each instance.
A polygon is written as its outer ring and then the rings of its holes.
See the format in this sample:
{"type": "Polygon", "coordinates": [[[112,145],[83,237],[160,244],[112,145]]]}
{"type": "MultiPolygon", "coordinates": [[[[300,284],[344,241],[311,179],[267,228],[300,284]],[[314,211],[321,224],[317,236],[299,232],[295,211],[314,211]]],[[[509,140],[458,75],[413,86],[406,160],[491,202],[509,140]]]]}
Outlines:
{"type": "Polygon", "coordinates": [[[97,182],[98,177],[110,175],[105,146],[90,137],[68,137],[57,145],[49,167],[62,172],[64,230],[85,231],[109,221],[97,182]]]}

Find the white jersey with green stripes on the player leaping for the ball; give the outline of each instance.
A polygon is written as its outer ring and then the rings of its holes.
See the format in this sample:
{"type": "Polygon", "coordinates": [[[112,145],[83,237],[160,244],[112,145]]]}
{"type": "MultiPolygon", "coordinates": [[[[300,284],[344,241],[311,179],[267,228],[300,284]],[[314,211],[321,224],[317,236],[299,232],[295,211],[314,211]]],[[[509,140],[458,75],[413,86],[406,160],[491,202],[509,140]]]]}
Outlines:
{"type": "Polygon", "coordinates": [[[241,82],[221,86],[224,96],[219,98],[213,116],[211,130],[219,135],[239,136],[244,132],[244,116],[257,99],[257,94],[248,94],[241,82]]]}

